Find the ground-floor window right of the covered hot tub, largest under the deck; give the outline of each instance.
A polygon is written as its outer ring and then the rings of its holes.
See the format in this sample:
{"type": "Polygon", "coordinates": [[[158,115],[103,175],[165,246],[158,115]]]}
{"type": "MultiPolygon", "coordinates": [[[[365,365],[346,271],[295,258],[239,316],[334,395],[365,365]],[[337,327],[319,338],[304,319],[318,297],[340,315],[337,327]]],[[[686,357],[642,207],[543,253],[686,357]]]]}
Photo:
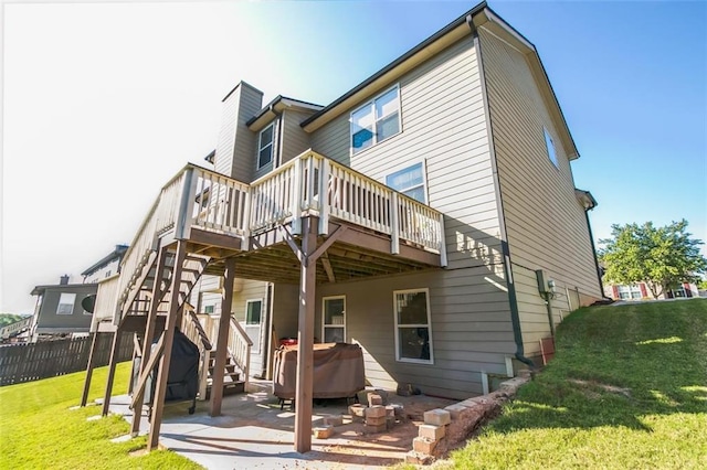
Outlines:
{"type": "Polygon", "coordinates": [[[429,293],[428,289],[393,292],[398,361],[433,363],[429,293]]]}

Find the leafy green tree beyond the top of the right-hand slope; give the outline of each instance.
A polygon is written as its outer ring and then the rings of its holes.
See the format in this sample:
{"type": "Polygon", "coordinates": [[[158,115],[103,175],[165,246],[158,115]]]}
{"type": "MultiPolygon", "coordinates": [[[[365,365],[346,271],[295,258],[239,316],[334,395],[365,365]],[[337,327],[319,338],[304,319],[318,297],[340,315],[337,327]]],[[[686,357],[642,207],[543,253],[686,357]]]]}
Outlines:
{"type": "Polygon", "coordinates": [[[686,232],[687,221],[664,227],[614,224],[612,238],[604,245],[599,259],[604,265],[606,280],[615,284],[645,282],[653,298],[682,282],[696,282],[707,271],[707,258],[699,253],[699,239],[686,232]]]}

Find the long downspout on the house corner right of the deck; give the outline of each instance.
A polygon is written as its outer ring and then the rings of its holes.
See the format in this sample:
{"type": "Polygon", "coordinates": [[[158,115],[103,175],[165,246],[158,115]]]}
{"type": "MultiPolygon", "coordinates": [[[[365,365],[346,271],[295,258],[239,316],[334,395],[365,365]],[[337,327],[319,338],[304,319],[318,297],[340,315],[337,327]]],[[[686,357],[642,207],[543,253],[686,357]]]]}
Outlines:
{"type": "Polygon", "coordinates": [[[535,368],[535,363],[526,357],[525,349],[523,345],[523,331],[520,330],[520,314],[518,313],[518,298],[516,297],[516,286],[513,280],[511,264],[510,264],[510,248],[508,246],[508,234],[506,232],[506,218],[504,212],[504,204],[500,193],[500,178],[498,177],[498,164],[496,161],[496,150],[494,146],[493,126],[490,118],[490,108],[488,105],[488,92],[486,89],[486,74],[484,72],[484,60],[482,54],[482,45],[478,39],[478,32],[474,25],[474,18],[472,14],[466,17],[466,24],[472,30],[474,36],[474,49],[478,56],[476,63],[478,64],[478,73],[481,76],[482,97],[484,102],[484,115],[486,122],[488,122],[488,153],[490,157],[492,172],[494,175],[494,190],[496,193],[496,209],[498,211],[498,228],[500,232],[500,248],[504,257],[504,273],[506,275],[506,285],[508,287],[508,302],[510,307],[510,323],[513,324],[513,338],[516,343],[516,352],[514,357],[521,363],[535,368]]]}

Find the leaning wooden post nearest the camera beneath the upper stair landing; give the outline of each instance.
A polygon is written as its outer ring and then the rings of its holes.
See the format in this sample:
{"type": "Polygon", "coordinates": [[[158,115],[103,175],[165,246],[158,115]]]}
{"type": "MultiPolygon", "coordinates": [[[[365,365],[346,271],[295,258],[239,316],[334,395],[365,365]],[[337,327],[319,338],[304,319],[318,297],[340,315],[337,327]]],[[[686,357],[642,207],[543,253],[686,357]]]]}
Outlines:
{"type": "MultiPolygon", "coordinates": [[[[167,380],[169,377],[169,363],[172,353],[172,343],[175,341],[175,327],[177,325],[177,310],[179,309],[179,291],[181,282],[182,267],[187,255],[186,244],[182,241],[177,242],[177,254],[175,255],[175,267],[170,282],[169,310],[167,320],[165,321],[163,331],[163,349],[159,360],[157,373],[157,384],[155,386],[155,395],[152,396],[152,416],[150,419],[150,437],[147,441],[147,450],[154,450],[159,444],[159,428],[162,424],[162,412],[165,410],[165,396],[167,395],[167,380]]],[[[156,278],[157,279],[157,278],[156,278]]]]}

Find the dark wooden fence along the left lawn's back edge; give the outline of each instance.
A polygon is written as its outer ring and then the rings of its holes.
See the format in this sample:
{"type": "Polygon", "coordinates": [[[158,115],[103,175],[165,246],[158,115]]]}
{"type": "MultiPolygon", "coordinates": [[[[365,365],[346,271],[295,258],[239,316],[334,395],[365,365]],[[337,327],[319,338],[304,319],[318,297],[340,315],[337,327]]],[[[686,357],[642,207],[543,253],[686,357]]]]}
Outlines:
{"type": "MultiPolygon", "coordinates": [[[[0,346],[0,386],[85,371],[88,365],[93,334],[75,340],[0,346]]],[[[108,365],[112,343],[113,334],[99,333],[94,356],[96,367],[108,365]]],[[[130,359],[133,359],[133,335],[123,334],[118,349],[118,362],[130,359]]]]}

